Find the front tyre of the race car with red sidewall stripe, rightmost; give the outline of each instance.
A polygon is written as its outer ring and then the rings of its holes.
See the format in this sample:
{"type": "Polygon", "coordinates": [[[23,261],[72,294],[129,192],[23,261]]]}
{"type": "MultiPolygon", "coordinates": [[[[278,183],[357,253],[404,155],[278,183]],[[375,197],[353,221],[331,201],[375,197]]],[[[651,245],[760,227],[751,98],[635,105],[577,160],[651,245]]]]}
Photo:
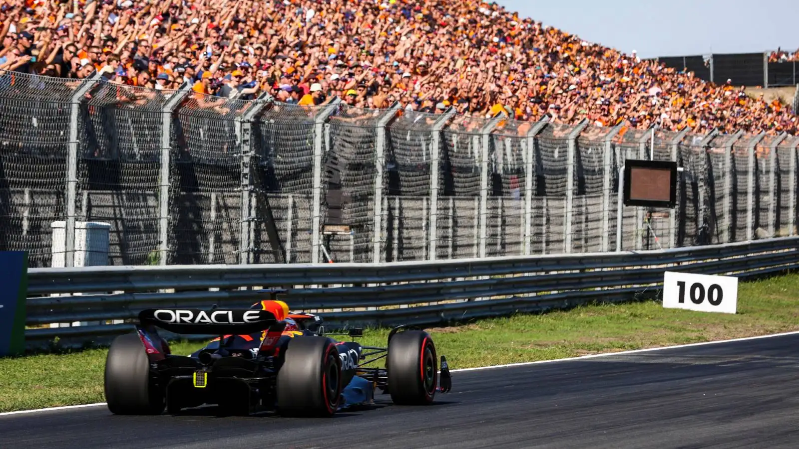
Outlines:
{"type": "Polygon", "coordinates": [[[438,364],[430,334],[420,330],[397,333],[388,342],[388,392],[394,404],[426,405],[438,387],[438,364]]]}

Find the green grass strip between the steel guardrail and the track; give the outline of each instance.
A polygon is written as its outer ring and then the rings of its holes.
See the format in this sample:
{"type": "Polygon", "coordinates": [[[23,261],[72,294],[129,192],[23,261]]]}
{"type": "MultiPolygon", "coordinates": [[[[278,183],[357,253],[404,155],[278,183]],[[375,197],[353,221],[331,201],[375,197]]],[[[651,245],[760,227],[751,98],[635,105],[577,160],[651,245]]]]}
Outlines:
{"type": "MultiPolygon", "coordinates": [[[[752,337],[799,329],[799,274],[739,285],[738,313],[663,309],[657,301],[585,305],[567,311],[430,328],[451,368],[752,337]]],[[[367,329],[384,345],[388,329],[367,329]]],[[[201,343],[173,343],[188,354],[201,343]]],[[[0,412],[103,402],[105,349],[0,359],[0,412]]]]}

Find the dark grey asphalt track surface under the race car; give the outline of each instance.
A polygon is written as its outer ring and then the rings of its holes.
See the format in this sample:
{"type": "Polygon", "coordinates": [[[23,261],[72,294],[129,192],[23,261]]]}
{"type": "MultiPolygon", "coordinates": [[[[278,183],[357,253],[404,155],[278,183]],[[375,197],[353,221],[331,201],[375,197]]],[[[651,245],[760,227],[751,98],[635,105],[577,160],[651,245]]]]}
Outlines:
{"type": "MultiPolygon", "coordinates": [[[[454,368],[454,367],[453,367],[454,368]]],[[[0,448],[799,447],[799,335],[453,373],[431,406],[332,419],[0,416],[0,448]]]]}

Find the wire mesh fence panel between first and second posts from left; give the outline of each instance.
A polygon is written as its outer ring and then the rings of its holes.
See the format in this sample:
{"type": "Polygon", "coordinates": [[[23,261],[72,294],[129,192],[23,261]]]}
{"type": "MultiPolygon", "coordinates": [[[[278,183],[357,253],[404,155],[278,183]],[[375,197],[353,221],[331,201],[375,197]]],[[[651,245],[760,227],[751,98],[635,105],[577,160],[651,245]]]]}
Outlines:
{"type": "Polygon", "coordinates": [[[161,111],[172,94],[101,82],[81,104],[78,219],[109,223],[109,265],[157,262],[161,111]]]}

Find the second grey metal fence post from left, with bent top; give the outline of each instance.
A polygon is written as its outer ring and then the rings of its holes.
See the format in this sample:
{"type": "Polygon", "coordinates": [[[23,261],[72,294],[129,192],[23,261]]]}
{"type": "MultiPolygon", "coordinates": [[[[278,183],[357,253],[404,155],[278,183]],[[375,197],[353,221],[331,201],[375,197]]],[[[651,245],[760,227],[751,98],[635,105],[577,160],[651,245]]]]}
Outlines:
{"type": "Polygon", "coordinates": [[[181,85],[169,100],[166,100],[163,108],[161,108],[161,175],[159,180],[158,194],[158,237],[161,244],[158,248],[160,252],[159,264],[166,265],[167,255],[169,254],[169,152],[172,151],[172,120],[173,112],[177,109],[178,104],[192,89],[192,86],[185,82],[181,85]]]}

